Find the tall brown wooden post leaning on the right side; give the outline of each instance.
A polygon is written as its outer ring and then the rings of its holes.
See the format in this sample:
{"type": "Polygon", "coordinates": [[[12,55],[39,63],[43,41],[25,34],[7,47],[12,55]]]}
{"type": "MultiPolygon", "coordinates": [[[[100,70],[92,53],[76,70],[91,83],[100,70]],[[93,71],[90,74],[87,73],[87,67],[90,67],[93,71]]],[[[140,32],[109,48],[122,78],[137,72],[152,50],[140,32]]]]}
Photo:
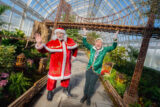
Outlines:
{"type": "Polygon", "coordinates": [[[141,78],[149,41],[150,41],[150,38],[152,37],[151,29],[154,27],[154,21],[155,21],[155,15],[151,14],[151,16],[148,19],[146,30],[144,32],[144,38],[141,44],[140,52],[138,55],[137,63],[135,66],[135,70],[134,70],[134,74],[132,77],[129,90],[126,91],[124,94],[124,101],[127,104],[134,103],[135,101],[137,101],[137,98],[138,98],[138,84],[141,78]]]}

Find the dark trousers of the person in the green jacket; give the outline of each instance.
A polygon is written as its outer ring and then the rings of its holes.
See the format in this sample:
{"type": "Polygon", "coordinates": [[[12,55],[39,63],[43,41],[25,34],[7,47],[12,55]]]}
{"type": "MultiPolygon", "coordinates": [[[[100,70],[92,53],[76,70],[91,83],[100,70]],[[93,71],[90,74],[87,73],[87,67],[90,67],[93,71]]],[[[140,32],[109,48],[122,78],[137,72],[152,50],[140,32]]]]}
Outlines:
{"type": "Polygon", "coordinates": [[[87,95],[89,98],[92,97],[94,93],[94,87],[98,80],[98,75],[94,73],[94,71],[90,68],[86,71],[86,81],[84,87],[84,94],[87,95]]]}

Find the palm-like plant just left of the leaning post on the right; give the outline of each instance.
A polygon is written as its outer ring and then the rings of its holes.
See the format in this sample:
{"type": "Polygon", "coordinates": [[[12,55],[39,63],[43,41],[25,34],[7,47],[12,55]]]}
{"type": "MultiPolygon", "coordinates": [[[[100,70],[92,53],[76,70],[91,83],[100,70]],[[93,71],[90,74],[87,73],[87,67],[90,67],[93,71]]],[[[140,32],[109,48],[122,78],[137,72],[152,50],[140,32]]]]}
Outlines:
{"type": "Polygon", "coordinates": [[[130,61],[131,62],[136,62],[137,58],[138,58],[138,54],[139,54],[139,51],[138,49],[132,47],[132,46],[129,46],[128,47],[129,50],[128,50],[128,56],[130,58],[130,61]]]}

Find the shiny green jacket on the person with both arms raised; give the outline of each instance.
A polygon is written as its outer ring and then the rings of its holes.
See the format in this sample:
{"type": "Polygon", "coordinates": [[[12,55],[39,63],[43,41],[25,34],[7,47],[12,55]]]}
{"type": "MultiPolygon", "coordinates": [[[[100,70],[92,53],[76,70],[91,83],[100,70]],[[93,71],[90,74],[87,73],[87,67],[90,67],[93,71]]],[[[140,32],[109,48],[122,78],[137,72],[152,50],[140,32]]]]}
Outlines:
{"type": "Polygon", "coordinates": [[[99,51],[99,54],[95,61],[94,61],[95,52],[96,52],[95,46],[92,46],[91,44],[89,44],[86,40],[86,37],[83,37],[83,44],[88,50],[90,50],[90,59],[87,66],[87,70],[92,66],[93,71],[97,74],[100,74],[102,69],[103,59],[106,53],[114,50],[117,47],[117,42],[114,42],[112,46],[102,47],[100,50],[97,50],[99,51]]]}

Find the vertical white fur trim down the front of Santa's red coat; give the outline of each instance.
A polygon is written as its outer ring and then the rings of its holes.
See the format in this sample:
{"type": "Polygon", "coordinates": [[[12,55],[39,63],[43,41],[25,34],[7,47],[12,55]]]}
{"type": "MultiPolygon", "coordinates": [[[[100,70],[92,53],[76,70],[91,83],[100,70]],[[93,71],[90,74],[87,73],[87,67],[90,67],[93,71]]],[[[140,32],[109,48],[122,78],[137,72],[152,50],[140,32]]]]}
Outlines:
{"type": "Polygon", "coordinates": [[[61,73],[61,78],[64,78],[64,71],[65,71],[65,66],[66,66],[66,59],[67,59],[67,52],[66,52],[66,44],[63,41],[62,42],[63,46],[63,63],[62,63],[62,73],[61,73]]]}

